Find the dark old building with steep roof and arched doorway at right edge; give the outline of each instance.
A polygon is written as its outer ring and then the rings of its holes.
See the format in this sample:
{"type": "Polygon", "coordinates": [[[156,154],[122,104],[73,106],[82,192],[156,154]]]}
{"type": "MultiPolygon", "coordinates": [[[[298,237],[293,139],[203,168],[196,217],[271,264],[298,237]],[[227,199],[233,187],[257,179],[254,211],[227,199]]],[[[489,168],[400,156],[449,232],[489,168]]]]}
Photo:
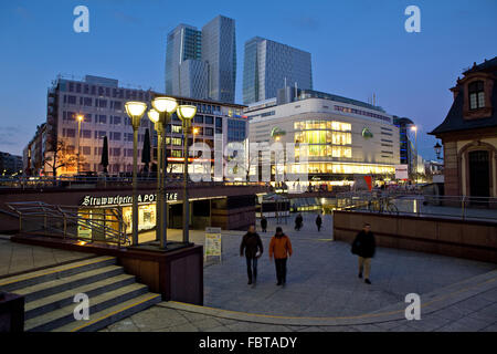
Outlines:
{"type": "Polygon", "coordinates": [[[497,56],[463,75],[445,121],[430,133],[444,147],[445,195],[497,197],[497,56]]]}

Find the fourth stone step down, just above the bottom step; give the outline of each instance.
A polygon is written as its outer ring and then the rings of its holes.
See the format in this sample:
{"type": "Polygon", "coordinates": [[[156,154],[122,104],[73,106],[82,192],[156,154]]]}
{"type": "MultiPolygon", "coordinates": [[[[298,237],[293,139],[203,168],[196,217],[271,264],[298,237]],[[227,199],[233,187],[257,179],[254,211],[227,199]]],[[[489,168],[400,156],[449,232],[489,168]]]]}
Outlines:
{"type": "MultiPolygon", "coordinates": [[[[106,292],[89,298],[89,319],[105,309],[119,305],[124,302],[146,294],[148,288],[144,284],[133,283],[121,287],[112,292],[106,292]]],[[[27,332],[47,332],[57,327],[65,326],[72,322],[80,322],[74,319],[74,309],[77,303],[68,304],[62,309],[35,316],[24,322],[27,332]]]]}

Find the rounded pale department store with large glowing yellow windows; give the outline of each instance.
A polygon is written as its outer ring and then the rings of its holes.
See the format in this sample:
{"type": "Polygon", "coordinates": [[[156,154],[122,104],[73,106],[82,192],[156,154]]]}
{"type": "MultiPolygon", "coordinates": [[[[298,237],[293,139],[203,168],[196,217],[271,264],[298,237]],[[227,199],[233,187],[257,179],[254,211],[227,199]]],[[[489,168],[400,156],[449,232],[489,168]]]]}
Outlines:
{"type": "Polygon", "coordinates": [[[358,175],[392,178],[400,162],[399,128],[381,107],[294,87],[246,108],[250,140],[295,143],[296,173],[313,185],[348,185],[358,175]],[[308,144],[307,163],[299,144],[308,144]]]}

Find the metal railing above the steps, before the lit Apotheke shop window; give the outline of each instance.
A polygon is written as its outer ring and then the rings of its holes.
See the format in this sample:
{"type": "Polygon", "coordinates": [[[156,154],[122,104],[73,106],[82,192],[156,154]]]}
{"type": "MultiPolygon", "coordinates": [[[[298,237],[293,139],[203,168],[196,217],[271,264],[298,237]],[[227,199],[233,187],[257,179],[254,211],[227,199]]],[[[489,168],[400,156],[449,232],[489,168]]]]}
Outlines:
{"type": "Polygon", "coordinates": [[[8,202],[19,217],[19,231],[61,237],[85,242],[130,244],[127,225],[119,208],[98,211],[80,210],[78,207],[55,206],[42,201],[8,202]]]}

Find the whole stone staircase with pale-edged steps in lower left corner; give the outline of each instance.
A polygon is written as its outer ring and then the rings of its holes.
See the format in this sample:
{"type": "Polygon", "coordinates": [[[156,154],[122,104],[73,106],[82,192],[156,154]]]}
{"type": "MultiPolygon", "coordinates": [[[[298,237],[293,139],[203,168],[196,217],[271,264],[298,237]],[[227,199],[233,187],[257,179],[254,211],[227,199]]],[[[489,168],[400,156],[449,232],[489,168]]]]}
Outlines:
{"type": "Polygon", "coordinates": [[[24,331],[91,332],[161,301],[147,285],[116,266],[114,257],[96,257],[22,275],[0,279],[0,290],[25,296],[24,331]],[[89,299],[89,320],[76,321],[74,295],[89,299]]]}

